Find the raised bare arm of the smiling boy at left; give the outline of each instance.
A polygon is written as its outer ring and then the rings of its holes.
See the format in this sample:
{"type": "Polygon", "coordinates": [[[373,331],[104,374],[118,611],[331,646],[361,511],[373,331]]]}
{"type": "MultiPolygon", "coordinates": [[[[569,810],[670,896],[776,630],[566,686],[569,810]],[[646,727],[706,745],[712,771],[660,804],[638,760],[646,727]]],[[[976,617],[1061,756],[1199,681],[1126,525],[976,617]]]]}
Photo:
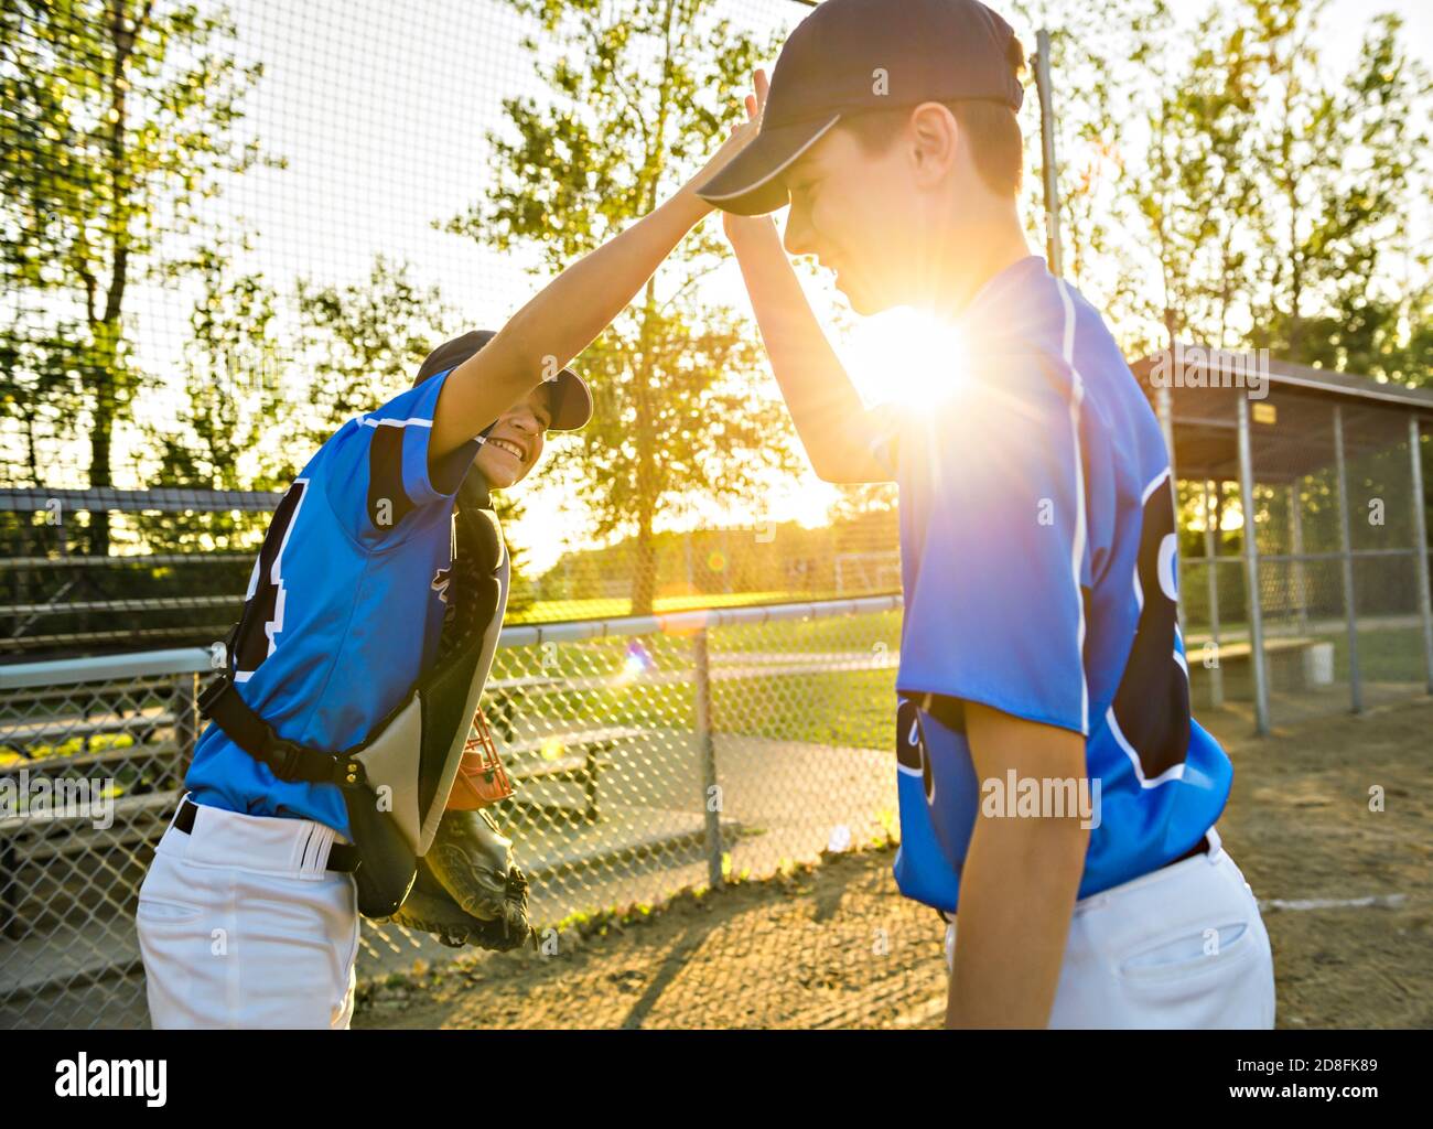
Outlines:
{"type": "Polygon", "coordinates": [[[666,202],[572,264],[453,370],[433,417],[430,458],[461,447],[592,344],[712,209],[694,188],[741,152],[755,128],[748,122],[734,130],[666,202]]]}

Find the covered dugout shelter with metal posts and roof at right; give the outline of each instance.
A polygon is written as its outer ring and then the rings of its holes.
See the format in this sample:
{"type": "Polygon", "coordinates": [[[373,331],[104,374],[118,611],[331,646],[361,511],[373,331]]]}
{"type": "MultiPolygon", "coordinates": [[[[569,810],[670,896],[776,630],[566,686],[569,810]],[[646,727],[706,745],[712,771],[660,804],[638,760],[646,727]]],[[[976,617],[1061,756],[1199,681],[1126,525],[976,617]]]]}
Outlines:
{"type": "Polygon", "coordinates": [[[1195,709],[1264,734],[1433,693],[1433,390],[1195,345],[1132,367],[1174,451],[1195,709]]]}

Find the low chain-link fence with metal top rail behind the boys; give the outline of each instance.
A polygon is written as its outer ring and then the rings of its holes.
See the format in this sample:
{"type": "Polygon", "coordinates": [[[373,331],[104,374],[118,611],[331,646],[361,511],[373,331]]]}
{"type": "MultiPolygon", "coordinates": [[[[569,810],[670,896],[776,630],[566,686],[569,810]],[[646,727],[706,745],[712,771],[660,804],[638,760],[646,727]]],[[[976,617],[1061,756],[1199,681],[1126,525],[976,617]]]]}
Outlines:
{"type": "MultiPolygon", "coordinates": [[[[483,708],[536,918],[893,834],[900,606],[504,629],[483,708]]],[[[0,1026],[143,1022],[133,907],[222,662],[215,645],[0,668],[0,1026]]],[[[365,923],[360,974],[447,951],[365,923]]]]}

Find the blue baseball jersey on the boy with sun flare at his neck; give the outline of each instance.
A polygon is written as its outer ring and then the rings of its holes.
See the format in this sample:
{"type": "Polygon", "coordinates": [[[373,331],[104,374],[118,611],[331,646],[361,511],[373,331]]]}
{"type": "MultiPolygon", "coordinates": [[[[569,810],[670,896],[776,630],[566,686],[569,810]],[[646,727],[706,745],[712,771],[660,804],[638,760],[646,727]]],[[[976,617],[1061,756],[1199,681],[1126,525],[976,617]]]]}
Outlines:
{"type": "Polygon", "coordinates": [[[959,325],[947,394],[884,408],[873,438],[900,487],[896,878],[946,913],[1007,785],[982,792],[964,702],[1085,736],[1079,897],[1194,847],[1232,781],[1189,714],[1164,434],[1099,312],[1029,256],[959,325]]]}

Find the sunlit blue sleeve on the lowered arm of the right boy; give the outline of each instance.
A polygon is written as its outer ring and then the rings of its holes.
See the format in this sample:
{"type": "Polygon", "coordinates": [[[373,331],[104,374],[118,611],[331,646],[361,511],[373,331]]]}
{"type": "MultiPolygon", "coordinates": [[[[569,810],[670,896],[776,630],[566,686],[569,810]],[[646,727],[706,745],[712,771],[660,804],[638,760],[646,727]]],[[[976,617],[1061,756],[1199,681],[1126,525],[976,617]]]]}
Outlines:
{"type": "Polygon", "coordinates": [[[901,689],[1088,735],[1079,395],[1037,361],[1013,368],[907,424],[903,454],[921,466],[903,466],[901,506],[913,494],[926,513],[910,514],[901,689]],[[919,443],[914,427],[929,428],[919,443]]]}

